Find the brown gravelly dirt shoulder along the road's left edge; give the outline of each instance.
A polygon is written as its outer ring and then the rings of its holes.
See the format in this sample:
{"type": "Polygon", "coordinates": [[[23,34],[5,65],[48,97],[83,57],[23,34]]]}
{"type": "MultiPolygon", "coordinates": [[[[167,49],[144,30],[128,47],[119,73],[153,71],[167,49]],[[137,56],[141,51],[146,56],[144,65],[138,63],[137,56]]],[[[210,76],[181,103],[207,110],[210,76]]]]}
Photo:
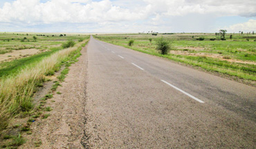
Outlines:
{"type": "Polygon", "coordinates": [[[47,119],[39,119],[30,127],[32,135],[24,135],[26,143],[20,148],[84,148],[80,143],[85,123],[86,48],[81,51],[79,61],[74,63],[46,106],[53,110],[47,119]]]}

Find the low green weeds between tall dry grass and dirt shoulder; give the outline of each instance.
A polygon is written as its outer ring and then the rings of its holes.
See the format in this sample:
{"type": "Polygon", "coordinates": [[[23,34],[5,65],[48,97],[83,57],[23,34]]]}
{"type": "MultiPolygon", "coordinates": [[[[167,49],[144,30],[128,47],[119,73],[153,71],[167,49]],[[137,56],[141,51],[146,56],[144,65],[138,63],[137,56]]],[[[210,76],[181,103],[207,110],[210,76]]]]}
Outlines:
{"type": "MultiPolygon", "coordinates": [[[[30,130],[30,126],[33,122],[37,121],[37,119],[47,119],[49,116],[51,116],[51,106],[45,106],[48,99],[53,98],[54,92],[57,90],[58,86],[61,86],[61,81],[64,81],[64,78],[66,77],[66,74],[68,74],[68,67],[71,66],[72,63],[77,62],[77,58],[80,57],[82,50],[82,47],[84,47],[88,43],[87,41],[84,41],[80,43],[81,46],[77,46],[75,50],[68,50],[68,55],[65,59],[62,59],[60,67],[64,67],[62,70],[60,76],[58,77],[59,81],[54,81],[54,84],[51,88],[51,91],[48,92],[47,95],[45,95],[41,100],[39,105],[37,105],[33,110],[21,112],[21,115],[19,117],[24,117],[27,119],[27,121],[23,124],[15,124],[12,127],[9,127],[8,129],[17,129],[18,134],[16,135],[10,135],[0,133],[0,148],[17,148],[18,146],[21,146],[23,143],[26,142],[26,139],[22,137],[23,133],[26,133],[27,135],[32,134],[32,131],[30,130]]],[[[57,94],[61,94],[61,92],[57,92],[57,94]]],[[[51,100],[51,102],[55,102],[51,100]]],[[[12,131],[11,131],[12,132],[12,131]]],[[[35,147],[39,147],[42,145],[41,140],[34,141],[35,147]]]]}

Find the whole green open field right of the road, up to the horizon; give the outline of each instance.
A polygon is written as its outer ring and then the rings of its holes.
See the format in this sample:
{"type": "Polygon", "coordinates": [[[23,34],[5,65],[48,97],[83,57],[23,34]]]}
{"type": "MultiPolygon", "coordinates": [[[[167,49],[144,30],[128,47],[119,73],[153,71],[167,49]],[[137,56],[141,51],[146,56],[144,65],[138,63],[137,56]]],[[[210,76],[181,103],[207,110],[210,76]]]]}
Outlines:
{"type": "Polygon", "coordinates": [[[232,79],[239,79],[255,86],[256,81],[256,36],[226,34],[226,41],[215,34],[100,34],[96,38],[132,50],[165,57],[190,66],[217,72],[232,79]],[[171,41],[172,50],[162,55],[156,50],[156,39],[163,37],[171,41]],[[196,40],[204,38],[203,41],[196,40]],[[128,46],[130,40],[132,46],[128,46]],[[149,41],[152,39],[152,42],[149,41]],[[214,39],[214,41],[210,41],[214,39]]]}

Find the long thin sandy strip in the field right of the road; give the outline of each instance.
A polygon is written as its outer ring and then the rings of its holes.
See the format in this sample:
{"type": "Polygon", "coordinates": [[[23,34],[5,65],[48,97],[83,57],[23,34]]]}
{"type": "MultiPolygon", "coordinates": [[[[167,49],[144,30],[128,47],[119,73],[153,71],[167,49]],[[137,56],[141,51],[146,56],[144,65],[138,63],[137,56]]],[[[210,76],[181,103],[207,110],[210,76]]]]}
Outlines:
{"type": "Polygon", "coordinates": [[[221,54],[203,53],[203,52],[191,53],[191,52],[180,51],[180,50],[171,50],[170,53],[171,54],[189,55],[189,56],[194,56],[194,57],[211,57],[214,59],[219,59],[221,61],[229,61],[232,63],[246,63],[246,64],[256,65],[256,62],[253,62],[253,61],[239,61],[239,60],[235,60],[235,59],[224,59],[221,54]]]}

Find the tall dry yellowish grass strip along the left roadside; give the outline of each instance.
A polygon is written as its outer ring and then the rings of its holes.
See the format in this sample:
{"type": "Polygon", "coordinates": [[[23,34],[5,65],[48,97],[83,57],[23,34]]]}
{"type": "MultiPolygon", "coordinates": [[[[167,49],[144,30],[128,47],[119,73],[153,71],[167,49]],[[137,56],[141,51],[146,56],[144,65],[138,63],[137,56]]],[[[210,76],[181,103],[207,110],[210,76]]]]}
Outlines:
{"type": "Polygon", "coordinates": [[[35,66],[28,66],[17,75],[0,80],[0,130],[8,126],[10,117],[33,108],[33,94],[37,90],[37,84],[46,80],[45,74],[48,72],[59,70],[62,62],[85,42],[55,52],[35,66]]]}

